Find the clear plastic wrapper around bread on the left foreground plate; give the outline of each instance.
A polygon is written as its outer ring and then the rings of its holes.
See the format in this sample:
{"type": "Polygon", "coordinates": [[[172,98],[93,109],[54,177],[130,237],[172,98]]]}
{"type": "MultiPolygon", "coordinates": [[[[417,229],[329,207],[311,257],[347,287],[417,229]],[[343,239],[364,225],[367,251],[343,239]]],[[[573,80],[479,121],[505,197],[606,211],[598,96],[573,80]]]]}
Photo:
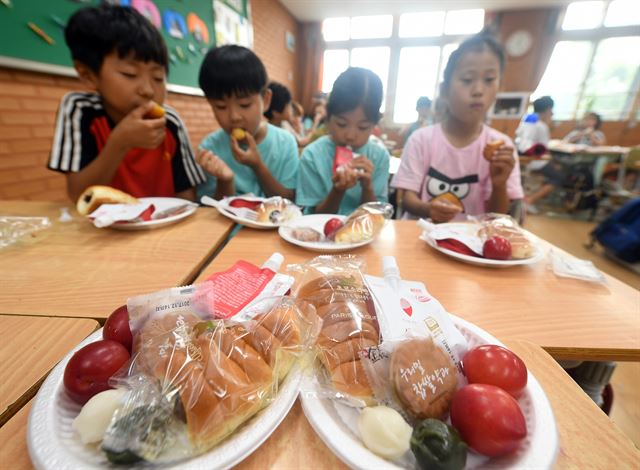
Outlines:
{"type": "Polygon", "coordinates": [[[129,299],[132,361],[112,382],[131,392],[102,444],[112,462],[174,462],[214,447],[274,399],[315,343],[310,304],[269,298],[237,322],[215,318],[212,291],[206,282],[129,299]]]}

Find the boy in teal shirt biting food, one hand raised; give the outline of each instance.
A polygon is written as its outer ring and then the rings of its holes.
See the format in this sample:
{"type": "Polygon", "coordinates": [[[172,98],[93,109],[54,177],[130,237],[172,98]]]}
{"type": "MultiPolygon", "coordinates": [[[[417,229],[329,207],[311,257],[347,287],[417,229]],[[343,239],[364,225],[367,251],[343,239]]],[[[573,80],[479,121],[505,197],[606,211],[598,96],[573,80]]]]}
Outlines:
{"type": "Polygon", "coordinates": [[[298,147],[291,134],[262,120],[271,91],[260,59],[245,47],[211,49],[200,68],[200,88],[221,129],[200,144],[197,161],[209,176],[198,197],[253,193],[293,200],[298,147]]]}

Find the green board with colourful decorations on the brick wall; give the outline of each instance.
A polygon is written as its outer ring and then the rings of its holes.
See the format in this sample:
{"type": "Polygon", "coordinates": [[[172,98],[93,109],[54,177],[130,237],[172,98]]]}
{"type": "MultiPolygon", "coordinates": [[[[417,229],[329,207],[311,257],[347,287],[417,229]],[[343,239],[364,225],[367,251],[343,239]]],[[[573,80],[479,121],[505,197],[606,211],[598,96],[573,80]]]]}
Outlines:
{"type": "MultiPolygon", "coordinates": [[[[227,0],[224,3],[227,9],[237,12],[244,21],[248,21],[247,1],[227,0]]],[[[101,2],[98,0],[10,0],[10,3],[11,7],[7,7],[4,1],[0,2],[0,64],[71,74],[72,62],[64,42],[64,24],[79,8],[97,6],[101,2]],[[28,27],[29,22],[45,32],[54,44],[48,44],[46,40],[34,33],[28,27]]],[[[188,26],[187,34],[183,38],[176,38],[169,35],[163,24],[161,32],[171,56],[169,83],[178,85],[174,87],[174,91],[188,92],[188,88],[180,90],[182,87],[198,88],[198,70],[204,52],[216,43],[213,3],[212,0],[153,1],[161,21],[163,15],[168,10],[172,10],[182,16],[186,25],[188,14],[194,13],[208,29],[209,40],[208,43],[204,43],[198,42],[194,35],[188,32],[188,26]]]]}

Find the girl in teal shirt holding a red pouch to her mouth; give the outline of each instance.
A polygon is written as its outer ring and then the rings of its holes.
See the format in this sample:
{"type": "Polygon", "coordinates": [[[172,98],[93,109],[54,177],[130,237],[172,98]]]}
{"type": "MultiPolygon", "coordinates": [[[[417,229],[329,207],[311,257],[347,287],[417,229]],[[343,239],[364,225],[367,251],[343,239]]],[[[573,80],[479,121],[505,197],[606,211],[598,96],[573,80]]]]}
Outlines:
{"type": "Polygon", "coordinates": [[[348,215],[360,204],[387,202],[389,152],[369,140],[380,120],[382,82],[372,71],[352,67],[333,84],[327,103],[328,135],[305,147],[298,168],[296,203],[309,212],[348,215]],[[333,172],[336,146],[356,158],[333,172]]]}

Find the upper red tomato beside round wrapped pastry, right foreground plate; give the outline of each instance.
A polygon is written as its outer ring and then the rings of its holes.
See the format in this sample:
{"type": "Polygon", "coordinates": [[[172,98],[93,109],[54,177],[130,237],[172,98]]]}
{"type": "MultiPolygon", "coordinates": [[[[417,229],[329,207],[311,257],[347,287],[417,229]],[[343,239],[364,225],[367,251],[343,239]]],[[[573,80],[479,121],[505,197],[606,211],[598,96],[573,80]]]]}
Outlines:
{"type": "Polygon", "coordinates": [[[496,344],[472,349],[464,355],[462,365],[470,384],[495,385],[516,398],[527,386],[527,366],[522,359],[496,344]]]}

